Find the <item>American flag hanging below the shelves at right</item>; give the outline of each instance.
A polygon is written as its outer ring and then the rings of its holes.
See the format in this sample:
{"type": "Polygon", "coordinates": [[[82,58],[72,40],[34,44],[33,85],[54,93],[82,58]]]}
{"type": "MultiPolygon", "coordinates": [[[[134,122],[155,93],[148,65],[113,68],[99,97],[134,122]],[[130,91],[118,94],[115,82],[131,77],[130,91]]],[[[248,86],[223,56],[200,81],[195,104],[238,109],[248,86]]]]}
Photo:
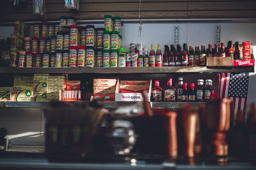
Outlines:
{"type": "Polygon", "coordinates": [[[234,119],[237,111],[241,111],[245,118],[249,73],[220,73],[219,78],[219,97],[233,101],[234,119]]]}

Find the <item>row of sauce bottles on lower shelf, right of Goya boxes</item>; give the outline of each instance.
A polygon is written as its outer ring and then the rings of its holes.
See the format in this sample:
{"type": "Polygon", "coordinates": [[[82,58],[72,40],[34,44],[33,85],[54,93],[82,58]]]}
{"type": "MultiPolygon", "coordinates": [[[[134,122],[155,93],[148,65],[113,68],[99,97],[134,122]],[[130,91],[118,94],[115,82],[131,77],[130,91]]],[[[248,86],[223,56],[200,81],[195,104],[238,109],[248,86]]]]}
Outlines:
{"type": "Polygon", "coordinates": [[[155,87],[152,89],[152,101],[198,101],[203,102],[212,99],[214,94],[214,87],[212,86],[212,80],[197,80],[197,86],[195,83],[190,84],[188,89],[188,83],[183,83],[183,78],[179,78],[177,89],[173,87],[173,80],[169,78],[167,80],[167,87],[163,89],[160,87],[159,80],[155,80],[155,87]]]}

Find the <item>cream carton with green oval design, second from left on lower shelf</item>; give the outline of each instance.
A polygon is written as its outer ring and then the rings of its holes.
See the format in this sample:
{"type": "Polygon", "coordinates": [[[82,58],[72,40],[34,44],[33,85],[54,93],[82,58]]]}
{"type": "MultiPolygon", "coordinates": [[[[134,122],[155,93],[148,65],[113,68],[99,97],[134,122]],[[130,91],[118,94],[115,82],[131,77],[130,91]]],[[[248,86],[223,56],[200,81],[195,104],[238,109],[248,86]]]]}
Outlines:
{"type": "Polygon", "coordinates": [[[33,101],[33,87],[12,87],[12,101],[33,101]]]}

